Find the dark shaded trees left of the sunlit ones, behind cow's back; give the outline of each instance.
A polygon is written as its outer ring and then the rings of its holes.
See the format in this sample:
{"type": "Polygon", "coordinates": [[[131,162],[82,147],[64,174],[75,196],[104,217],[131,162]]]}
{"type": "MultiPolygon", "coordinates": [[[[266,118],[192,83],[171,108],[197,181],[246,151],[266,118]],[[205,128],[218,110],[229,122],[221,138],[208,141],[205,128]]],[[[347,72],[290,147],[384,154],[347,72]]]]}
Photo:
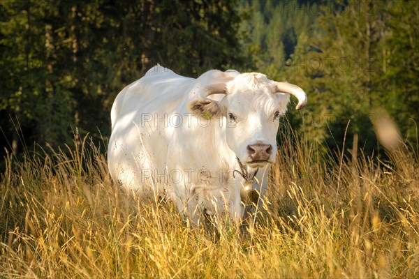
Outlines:
{"type": "Polygon", "coordinates": [[[234,1],[4,1],[0,17],[1,145],[14,151],[19,135],[109,135],[115,96],[155,63],[191,76],[242,63],[234,1]]]}

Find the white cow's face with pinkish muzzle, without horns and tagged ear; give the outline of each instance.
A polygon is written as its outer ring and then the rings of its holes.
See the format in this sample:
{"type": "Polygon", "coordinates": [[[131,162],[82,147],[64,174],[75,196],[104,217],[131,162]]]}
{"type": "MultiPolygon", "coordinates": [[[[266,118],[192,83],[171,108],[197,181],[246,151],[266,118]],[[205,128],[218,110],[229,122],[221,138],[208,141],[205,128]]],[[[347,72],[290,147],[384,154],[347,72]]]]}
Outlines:
{"type": "Polygon", "coordinates": [[[226,117],[226,141],[237,158],[251,167],[274,163],[279,117],[286,112],[289,94],[276,93],[265,75],[239,75],[227,85],[221,101],[226,117]]]}

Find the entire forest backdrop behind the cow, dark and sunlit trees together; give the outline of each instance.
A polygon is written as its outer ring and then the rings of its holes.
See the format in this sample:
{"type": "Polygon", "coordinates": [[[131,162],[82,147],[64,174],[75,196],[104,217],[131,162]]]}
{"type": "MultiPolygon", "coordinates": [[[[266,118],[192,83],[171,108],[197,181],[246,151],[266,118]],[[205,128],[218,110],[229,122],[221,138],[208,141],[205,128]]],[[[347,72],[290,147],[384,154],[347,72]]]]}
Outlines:
{"type": "Polygon", "coordinates": [[[418,40],[416,1],[2,0],[0,155],[105,145],[117,93],[156,63],[299,85],[309,104],[283,121],[325,151],[351,121],[348,146],[379,153],[382,114],[417,148],[418,40]]]}

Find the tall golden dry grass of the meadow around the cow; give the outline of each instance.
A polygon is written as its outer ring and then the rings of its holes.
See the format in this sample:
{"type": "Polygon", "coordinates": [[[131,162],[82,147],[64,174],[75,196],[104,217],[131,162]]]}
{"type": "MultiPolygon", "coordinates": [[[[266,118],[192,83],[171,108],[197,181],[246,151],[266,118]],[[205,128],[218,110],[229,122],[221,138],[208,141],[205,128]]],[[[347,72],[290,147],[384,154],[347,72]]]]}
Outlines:
{"type": "Polygon", "coordinates": [[[86,142],[71,156],[8,156],[0,277],[418,278],[418,154],[336,163],[318,148],[283,137],[249,236],[189,227],[171,204],[123,193],[86,142]]]}

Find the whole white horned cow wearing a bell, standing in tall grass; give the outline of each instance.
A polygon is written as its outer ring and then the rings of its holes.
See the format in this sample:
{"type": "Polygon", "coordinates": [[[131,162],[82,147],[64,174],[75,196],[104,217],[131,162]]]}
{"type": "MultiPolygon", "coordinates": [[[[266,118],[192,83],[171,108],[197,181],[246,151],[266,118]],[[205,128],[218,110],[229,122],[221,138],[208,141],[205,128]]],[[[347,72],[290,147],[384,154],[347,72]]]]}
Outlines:
{"type": "Polygon", "coordinates": [[[194,225],[225,209],[240,222],[266,191],[290,94],[297,110],[307,103],[300,87],[260,73],[209,70],[193,79],[154,66],[112,106],[110,175],[142,196],[168,195],[194,225]]]}

